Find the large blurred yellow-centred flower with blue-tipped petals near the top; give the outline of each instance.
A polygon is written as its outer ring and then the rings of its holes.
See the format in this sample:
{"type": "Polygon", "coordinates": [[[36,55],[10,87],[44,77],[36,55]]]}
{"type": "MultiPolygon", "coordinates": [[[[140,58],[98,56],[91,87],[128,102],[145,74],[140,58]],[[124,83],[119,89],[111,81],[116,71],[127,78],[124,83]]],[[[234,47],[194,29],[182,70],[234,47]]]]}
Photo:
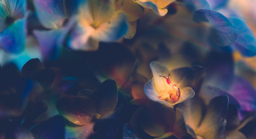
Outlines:
{"type": "Polygon", "coordinates": [[[124,12],[114,11],[107,0],[89,0],[79,9],[78,25],[71,32],[68,46],[72,49],[97,50],[100,41],[121,39],[128,30],[124,12]]]}

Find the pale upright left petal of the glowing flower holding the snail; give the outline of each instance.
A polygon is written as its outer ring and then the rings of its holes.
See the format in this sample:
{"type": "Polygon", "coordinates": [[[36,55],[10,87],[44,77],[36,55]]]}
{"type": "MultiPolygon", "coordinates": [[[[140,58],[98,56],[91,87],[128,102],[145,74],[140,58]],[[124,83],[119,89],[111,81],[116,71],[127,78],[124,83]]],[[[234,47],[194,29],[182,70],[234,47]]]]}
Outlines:
{"type": "Polygon", "coordinates": [[[160,75],[167,77],[169,74],[169,70],[158,62],[151,62],[150,68],[153,73],[154,86],[159,95],[161,96],[163,93],[166,93],[169,85],[167,84],[166,79],[160,77],[160,75]]]}

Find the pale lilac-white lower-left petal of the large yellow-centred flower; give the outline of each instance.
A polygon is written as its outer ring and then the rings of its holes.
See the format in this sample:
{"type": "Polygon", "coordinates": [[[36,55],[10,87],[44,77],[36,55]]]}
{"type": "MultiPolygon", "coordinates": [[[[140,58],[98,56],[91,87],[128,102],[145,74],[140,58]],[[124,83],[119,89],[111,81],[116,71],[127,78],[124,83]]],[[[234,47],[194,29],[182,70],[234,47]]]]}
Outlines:
{"type": "Polygon", "coordinates": [[[76,26],[68,38],[68,46],[75,50],[97,50],[99,41],[91,38],[94,29],[91,26],[76,26]]]}

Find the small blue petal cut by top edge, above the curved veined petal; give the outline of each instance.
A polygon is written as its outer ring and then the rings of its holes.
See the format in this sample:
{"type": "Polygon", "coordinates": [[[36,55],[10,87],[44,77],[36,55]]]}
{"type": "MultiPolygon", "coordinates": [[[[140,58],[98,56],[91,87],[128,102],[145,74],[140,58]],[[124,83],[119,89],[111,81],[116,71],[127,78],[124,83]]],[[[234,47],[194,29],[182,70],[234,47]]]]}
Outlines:
{"type": "Polygon", "coordinates": [[[200,9],[208,9],[210,10],[210,6],[206,0],[185,0],[184,3],[188,7],[188,9],[192,11],[200,10],[200,9]]]}

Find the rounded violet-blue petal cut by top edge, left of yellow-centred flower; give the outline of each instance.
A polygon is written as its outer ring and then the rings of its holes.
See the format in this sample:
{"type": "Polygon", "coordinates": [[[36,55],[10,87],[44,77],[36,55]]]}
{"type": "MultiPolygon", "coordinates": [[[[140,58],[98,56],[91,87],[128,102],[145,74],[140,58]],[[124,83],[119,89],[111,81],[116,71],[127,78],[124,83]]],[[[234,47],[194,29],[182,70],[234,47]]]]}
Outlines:
{"type": "Polygon", "coordinates": [[[67,18],[65,1],[34,0],[37,17],[42,25],[49,29],[59,29],[67,18]]]}

